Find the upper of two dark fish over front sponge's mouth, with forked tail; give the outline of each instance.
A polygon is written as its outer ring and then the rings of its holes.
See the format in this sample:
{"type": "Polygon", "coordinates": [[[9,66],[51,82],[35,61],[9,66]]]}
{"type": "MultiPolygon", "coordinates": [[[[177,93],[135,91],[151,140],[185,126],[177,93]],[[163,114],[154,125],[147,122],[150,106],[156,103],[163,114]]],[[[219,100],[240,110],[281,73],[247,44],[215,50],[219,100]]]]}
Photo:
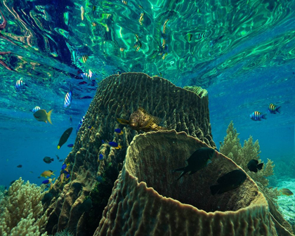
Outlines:
{"type": "Polygon", "coordinates": [[[173,169],[172,172],[174,173],[182,171],[181,175],[177,178],[177,180],[183,177],[185,173],[190,172],[190,175],[196,173],[197,171],[203,169],[212,162],[211,160],[214,157],[214,153],[215,150],[213,148],[201,147],[198,150],[195,150],[195,152],[193,152],[192,155],[186,160],[186,162],[188,162],[187,166],[178,169],[173,169]]]}

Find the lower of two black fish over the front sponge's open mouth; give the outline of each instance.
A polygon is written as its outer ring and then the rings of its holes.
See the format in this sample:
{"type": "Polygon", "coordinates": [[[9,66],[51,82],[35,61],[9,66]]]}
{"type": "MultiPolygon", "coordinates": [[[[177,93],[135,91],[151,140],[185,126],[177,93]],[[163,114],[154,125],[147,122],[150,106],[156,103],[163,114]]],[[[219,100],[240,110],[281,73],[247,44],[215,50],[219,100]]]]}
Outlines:
{"type": "Polygon", "coordinates": [[[218,185],[211,185],[211,195],[220,195],[235,188],[240,187],[246,181],[247,174],[238,169],[225,173],[225,175],[217,179],[218,185]]]}

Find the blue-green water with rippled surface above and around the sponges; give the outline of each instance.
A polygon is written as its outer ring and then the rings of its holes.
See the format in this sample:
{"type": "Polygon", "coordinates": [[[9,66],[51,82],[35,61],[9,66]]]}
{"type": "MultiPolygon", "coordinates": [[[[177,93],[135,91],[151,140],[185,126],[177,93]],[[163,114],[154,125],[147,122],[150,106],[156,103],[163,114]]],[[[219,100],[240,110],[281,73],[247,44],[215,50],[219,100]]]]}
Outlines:
{"type": "MultiPolygon", "coordinates": [[[[265,153],[293,153],[294,9],[295,1],[279,0],[1,1],[1,166],[54,156],[60,130],[76,129],[101,79],[122,72],[207,89],[216,143],[233,120],[245,138],[265,143],[265,153]],[[91,79],[81,77],[89,70],[91,79]],[[15,91],[18,79],[27,89],[15,91]],[[70,86],[72,106],[65,110],[70,86]],[[282,114],[249,119],[270,103],[281,105],[282,114]],[[54,109],[55,126],[34,120],[36,105],[54,109]]],[[[41,161],[34,169],[45,166],[41,161]]],[[[17,171],[9,181],[29,169],[17,171]]]]}

